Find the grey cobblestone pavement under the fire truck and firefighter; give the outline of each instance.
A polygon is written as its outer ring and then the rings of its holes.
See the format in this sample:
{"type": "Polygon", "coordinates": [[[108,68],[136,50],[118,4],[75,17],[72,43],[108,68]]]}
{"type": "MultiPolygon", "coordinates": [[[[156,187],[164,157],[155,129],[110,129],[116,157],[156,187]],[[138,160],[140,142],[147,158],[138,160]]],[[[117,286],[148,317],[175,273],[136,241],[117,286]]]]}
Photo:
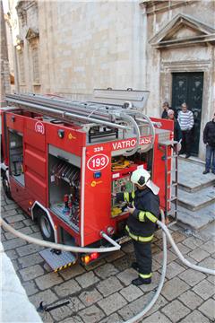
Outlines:
{"type": "MultiPolygon", "coordinates": [[[[4,196],[1,198],[2,216],[6,222],[25,234],[41,238],[38,225],[13,201],[4,196]]],[[[214,267],[215,249],[210,236],[201,239],[187,236],[178,228],[172,229],[172,235],[188,260],[214,267]]],[[[133,261],[131,242],[87,268],[78,264],[53,273],[39,255],[41,247],[2,231],[4,250],[35,307],[38,308],[40,301],[49,305],[70,300],[66,306],[41,314],[44,322],[62,323],[123,322],[142,310],[159,284],[162,263],[160,237],[161,232],[158,231],[152,245],[153,282],[136,287],[131,284],[137,276],[130,267],[133,261]]],[[[214,276],[188,269],[168,246],[166,282],[159,300],[142,322],[214,322],[214,303],[214,276]]]]}

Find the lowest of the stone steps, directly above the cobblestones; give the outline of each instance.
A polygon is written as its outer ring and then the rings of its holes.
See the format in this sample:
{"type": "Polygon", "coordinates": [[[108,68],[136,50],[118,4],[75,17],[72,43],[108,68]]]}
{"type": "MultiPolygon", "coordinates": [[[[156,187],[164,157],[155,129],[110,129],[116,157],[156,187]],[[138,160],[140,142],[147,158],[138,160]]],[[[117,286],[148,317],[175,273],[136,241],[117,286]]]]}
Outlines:
{"type": "Polygon", "coordinates": [[[190,211],[178,205],[177,221],[189,226],[192,230],[200,230],[209,223],[215,223],[214,205],[208,205],[198,211],[190,211]]]}

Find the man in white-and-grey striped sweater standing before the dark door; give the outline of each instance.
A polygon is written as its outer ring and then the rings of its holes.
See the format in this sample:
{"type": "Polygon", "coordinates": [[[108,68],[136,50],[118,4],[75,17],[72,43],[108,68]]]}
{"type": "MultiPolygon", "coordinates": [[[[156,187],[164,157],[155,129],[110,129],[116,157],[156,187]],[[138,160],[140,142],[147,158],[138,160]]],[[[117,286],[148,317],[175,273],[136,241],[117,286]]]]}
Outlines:
{"type": "Polygon", "coordinates": [[[182,104],[181,109],[182,110],[178,113],[177,117],[177,121],[182,130],[181,153],[185,153],[185,158],[189,158],[191,155],[191,130],[194,125],[193,112],[187,109],[186,103],[182,104]]]}

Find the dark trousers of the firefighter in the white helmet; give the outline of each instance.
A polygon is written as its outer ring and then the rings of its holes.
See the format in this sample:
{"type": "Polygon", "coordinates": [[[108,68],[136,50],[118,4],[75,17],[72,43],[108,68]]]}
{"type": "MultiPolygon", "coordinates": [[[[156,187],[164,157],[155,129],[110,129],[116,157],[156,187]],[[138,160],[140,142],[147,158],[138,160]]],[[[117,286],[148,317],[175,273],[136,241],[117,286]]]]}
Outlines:
{"type": "Polygon", "coordinates": [[[151,273],[151,249],[150,242],[140,242],[133,240],[133,247],[136,261],[139,267],[139,273],[149,275],[151,273]]]}

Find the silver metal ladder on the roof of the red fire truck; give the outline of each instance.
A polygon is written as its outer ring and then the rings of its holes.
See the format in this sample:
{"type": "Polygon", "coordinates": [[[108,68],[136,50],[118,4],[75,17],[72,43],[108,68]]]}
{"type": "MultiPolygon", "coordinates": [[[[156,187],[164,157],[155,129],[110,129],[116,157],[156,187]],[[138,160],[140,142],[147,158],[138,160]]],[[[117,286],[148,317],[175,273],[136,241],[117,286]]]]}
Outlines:
{"type": "MultiPolygon", "coordinates": [[[[39,94],[7,94],[5,100],[21,109],[39,113],[66,121],[76,122],[83,127],[102,126],[130,131],[136,137],[136,145],[125,155],[132,155],[139,148],[141,135],[151,135],[151,143],[145,151],[154,144],[154,122],[142,113],[149,92],[123,90],[95,90],[91,101],[77,101],[55,95],[39,94]],[[142,134],[142,129],[147,134],[142,134]],[[147,129],[146,129],[147,128],[147,129]]],[[[143,151],[142,151],[143,152],[143,151]]]]}

